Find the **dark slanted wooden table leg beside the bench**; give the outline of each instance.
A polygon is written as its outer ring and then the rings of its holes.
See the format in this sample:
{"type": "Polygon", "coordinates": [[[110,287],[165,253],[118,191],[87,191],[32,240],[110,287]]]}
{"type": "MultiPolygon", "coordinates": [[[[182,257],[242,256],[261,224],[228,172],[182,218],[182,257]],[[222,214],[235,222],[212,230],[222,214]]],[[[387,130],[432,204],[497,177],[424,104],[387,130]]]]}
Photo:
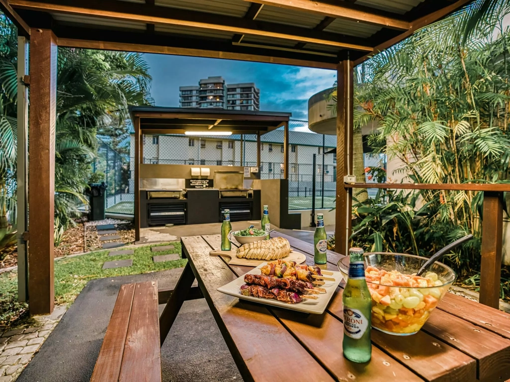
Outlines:
{"type": "Polygon", "coordinates": [[[161,346],[163,346],[163,342],[165,342],[166,336],[168,335],[168,332],[170,332],[173,321],[175,321],[177,313],[179,313],[179,310],[183,306],[183,302],[186,300],[186,296],[191,289],[191,284],[193,284],[193,281],[195,281],[195,275],[193,274],[191,265],[188,262],[184,267],[181,278],[179,281],[177,281],[177,285],[175,285],[175,289],[170,295],[170,298],[166,303],[166,307],[160,317],[161,346]]]}

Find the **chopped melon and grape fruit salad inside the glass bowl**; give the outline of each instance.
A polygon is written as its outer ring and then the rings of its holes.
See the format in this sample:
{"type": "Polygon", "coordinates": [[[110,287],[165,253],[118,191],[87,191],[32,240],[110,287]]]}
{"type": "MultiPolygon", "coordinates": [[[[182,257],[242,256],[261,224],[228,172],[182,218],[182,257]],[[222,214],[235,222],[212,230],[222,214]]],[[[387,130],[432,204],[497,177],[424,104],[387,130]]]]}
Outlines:
{"type": "Polygon", "coordinates": [[[365,277],[372,295],[372,326],[394,334],[418,332],[448,290],[434,272],[420,277],[368,266],[365,277]]]}

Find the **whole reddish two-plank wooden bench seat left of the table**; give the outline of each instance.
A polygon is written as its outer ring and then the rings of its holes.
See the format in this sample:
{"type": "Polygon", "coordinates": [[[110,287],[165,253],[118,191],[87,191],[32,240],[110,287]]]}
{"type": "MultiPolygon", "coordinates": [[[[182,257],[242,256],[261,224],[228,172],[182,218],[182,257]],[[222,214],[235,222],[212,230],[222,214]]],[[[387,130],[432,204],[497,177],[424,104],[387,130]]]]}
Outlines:
{"type": "Polygon", "coordinates": [[[161,382],[158,283],[120,287],[91,382],[161,382]]]}

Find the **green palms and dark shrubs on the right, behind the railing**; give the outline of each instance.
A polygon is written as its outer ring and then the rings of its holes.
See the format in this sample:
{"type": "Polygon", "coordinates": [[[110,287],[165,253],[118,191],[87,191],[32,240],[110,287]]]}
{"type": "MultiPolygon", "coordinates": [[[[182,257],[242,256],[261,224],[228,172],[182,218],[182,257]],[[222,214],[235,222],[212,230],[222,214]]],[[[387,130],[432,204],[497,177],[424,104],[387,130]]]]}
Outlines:
{"type": "MultiPolygon", "coordinates": [[[[358,73],[364,81],[354,94],[354,124],[378,124],[369,142],[400,160],[406,180],[510,182],[510,32],[502,24],[509,13],[509,2],[478,0],[377,54],[358,73]],[[482,22],[473,24],[480,12],[482,22]]],[[[390,182],[395,175],[388,174],[390,182]]],[[[369,251],[429,256],[472,233],[447,262],[473,282],[482,202],[476,192],[380,191],[354,204],[352,239],[369,251]]]]}

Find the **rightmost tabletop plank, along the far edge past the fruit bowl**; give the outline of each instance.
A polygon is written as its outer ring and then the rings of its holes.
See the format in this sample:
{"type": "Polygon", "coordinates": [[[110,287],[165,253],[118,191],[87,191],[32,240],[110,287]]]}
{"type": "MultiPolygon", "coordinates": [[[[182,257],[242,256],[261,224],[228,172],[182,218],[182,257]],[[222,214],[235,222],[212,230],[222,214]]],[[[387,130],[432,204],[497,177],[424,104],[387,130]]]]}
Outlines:
{"type": "Polygon", "coordinates": [[[438,308],[510,339],[510,314],[453,293],[446,293],[438,308]]]}

